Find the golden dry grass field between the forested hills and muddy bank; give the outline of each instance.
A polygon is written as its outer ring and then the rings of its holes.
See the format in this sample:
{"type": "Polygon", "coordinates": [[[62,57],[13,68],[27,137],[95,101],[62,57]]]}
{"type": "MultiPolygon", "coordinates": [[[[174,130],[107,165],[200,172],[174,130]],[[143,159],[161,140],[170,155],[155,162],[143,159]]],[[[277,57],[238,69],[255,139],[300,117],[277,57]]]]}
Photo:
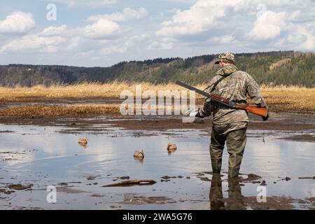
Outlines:
{"type": "MultiPolygon", "coordinates": [[[[153,85],[151,83],[85,83],[80,85],[56,85],[52,87],[0,87],[0,102],[25,103],[34,102],[31,106],[15,106],[0,110],[1,116],[76,116],[99,115],[107,113],[119,113],[119,105],[98,104],[51,106],[43,105],[45,102],[53,103],[64,99],[82,101],[84,99],[119,99],[123,90],[135,92],[136,85],[141,84],[142,91],[153,90],[183,90],[175,84],[153,85]]],[[[197,85],[204,89],[206,85],[197,85]]],[[[297,111],[315,112],[315,88],[306,87],[261,87],[271,111],[297,111]]],[[[197,96],[197,102],[202,103],[202,97],[197,96]]]]}

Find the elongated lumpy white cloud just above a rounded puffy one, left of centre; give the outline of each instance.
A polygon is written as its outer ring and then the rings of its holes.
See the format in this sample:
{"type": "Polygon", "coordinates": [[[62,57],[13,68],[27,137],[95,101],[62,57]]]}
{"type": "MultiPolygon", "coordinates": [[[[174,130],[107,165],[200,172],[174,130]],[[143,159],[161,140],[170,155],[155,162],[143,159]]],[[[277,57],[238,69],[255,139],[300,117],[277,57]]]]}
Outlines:
{"type": "Polygon", "coordinates": [[[116,22],[121,22],[125,20],[139,20],[140,18],[144,18],[148,15],[148,11],[146,8],[139,8],[139,10],[134,10],[132,8],[125,8],[123,13],[116,12],[112,14],[104,14],[104,15],[92,15],[87,18],[88,21],[97,21],[101,19],[112,20],[116,22]]]}

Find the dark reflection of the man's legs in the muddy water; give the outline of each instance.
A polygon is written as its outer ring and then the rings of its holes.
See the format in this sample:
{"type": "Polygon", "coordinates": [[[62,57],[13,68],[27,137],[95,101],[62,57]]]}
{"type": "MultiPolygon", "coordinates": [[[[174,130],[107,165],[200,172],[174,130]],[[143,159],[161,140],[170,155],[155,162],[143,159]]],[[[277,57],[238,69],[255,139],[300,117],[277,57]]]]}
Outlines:
{"type": "Polygon", "coordinates": [[[241,186],[238,179],[228,180],[228,199],[223,200],[221,174],[214,174],[210,188],[210,209],[211,210],[242,210],[246,209],[244,196],[241,195],[241,186]],[[224,204],[226,202],[226,205],[224,204]]]}

